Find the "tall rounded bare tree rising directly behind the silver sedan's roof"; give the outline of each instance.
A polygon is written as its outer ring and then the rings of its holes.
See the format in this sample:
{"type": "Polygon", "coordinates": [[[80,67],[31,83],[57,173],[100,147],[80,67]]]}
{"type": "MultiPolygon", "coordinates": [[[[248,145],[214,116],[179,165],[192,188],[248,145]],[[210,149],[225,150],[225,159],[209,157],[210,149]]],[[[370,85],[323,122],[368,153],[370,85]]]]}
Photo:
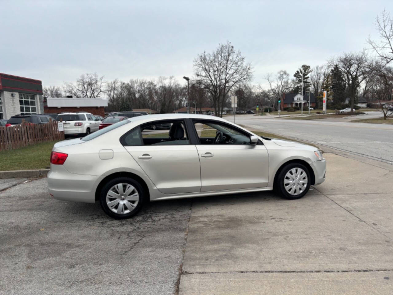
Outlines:
{"type": "Polygon", "coordinates": [[[252,67],[246,63],[240,50],[235,51],[230,42],[219,44],[212,53],[198,54],[194,60],[195,76],[209,92],[214,111],[222,117],[222,107],[233,87],[241,81],[252,79],[252,67]]]}

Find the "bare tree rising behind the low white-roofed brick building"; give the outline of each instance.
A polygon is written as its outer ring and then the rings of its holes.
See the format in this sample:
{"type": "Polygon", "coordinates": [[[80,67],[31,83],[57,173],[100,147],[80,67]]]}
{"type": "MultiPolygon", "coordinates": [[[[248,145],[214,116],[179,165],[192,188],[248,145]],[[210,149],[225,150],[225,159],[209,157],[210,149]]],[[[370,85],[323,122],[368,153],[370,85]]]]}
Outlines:
{"type": "Polygon", "coordinates": [[[97,73],[82,74],[76,84],[64,82],[64,92],[76,98],[98,98],[105,92],[104,76],[97,73]]]}

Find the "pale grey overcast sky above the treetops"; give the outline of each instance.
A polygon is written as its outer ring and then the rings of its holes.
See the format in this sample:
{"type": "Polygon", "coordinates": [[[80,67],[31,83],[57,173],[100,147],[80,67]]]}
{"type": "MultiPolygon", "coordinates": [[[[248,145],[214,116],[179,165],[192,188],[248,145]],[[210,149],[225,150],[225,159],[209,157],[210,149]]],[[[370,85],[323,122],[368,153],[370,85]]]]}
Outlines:
{"type": "Polygon", "coordinates": [[[373,1],[0,0],[0,72],[61,86],[86,72],[106,80],[193,76],[198,53],[230,41],[266,73],[323,65],[377,38],[373,1]]]}

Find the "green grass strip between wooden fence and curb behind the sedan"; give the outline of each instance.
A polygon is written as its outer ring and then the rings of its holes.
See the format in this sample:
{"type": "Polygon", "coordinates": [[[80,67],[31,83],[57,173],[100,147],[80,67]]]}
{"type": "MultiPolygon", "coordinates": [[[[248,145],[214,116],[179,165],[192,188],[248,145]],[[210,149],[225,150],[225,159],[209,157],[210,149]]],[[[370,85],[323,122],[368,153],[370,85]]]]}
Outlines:
{"type": "Polygon", "coordinates": [[[50,167],[50,154],[57,141],[0,151],[0,171],[45,169],[50,167]]]}

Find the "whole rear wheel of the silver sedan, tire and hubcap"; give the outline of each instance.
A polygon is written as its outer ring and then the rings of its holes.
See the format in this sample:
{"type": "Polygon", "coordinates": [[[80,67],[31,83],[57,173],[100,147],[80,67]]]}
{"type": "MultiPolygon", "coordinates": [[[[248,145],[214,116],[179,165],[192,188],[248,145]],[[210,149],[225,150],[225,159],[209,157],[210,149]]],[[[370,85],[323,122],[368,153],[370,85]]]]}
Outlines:
{"type": "Polygon", "coordinates": [[[141,210],[144,200],[142,186],[132,178],[118,177],[108,181],[101,190],[101,208],[110,217],[125,219],[141,210]]]}

